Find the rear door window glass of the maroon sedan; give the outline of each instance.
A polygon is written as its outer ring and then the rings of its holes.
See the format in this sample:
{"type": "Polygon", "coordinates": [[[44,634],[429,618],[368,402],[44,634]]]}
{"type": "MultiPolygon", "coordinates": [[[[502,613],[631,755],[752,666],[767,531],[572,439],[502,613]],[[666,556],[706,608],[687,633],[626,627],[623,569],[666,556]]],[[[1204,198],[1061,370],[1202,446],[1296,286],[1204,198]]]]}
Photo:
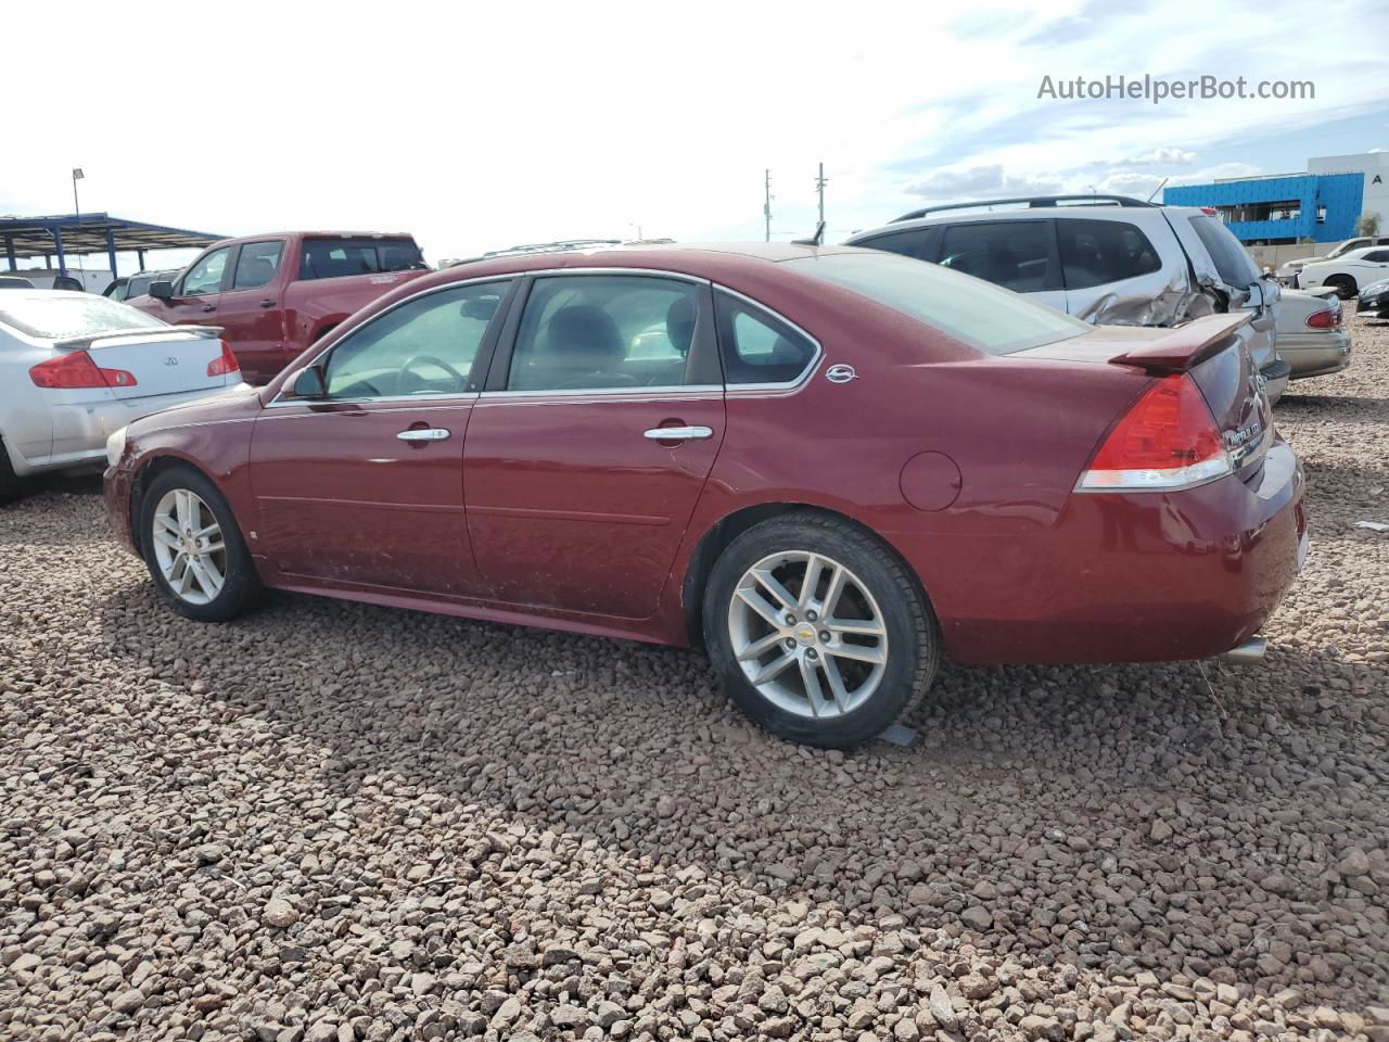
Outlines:
{"type": "Polygon", "coordinates": [[[646,275],[536,279],[507,389],[679,386],[697,315],[699,290],[689,282],[646,275]]]}

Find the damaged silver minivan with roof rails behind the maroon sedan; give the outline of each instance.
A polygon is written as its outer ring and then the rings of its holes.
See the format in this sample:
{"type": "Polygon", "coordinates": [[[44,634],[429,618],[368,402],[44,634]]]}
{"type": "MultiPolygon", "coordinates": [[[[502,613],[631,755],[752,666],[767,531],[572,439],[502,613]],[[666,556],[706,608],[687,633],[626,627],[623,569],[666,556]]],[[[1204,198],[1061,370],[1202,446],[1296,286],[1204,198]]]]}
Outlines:
{"type": "Polygon", "coordinates": [[[1029,196],[926,207],[846,245],[942,264],[1097,325],[1178,325],[1254,313],[1249,349],[1270,402],[1288,386],[1275,350],[1279,288],[1200,207],[1126,196],[1029,196]]]}

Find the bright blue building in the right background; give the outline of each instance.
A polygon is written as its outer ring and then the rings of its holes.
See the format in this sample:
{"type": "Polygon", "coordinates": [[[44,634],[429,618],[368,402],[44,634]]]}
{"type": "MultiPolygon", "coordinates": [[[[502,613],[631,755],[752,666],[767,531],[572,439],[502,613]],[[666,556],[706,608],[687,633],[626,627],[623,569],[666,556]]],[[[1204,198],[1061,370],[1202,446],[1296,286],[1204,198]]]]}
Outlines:
{"type": "Polygon", "coordinates": [[[1246,245],[1339,242],[1356,233],[1364,174],[1288,174],[1163,190],[1174,206],[1208,206],[1246,245]]]}

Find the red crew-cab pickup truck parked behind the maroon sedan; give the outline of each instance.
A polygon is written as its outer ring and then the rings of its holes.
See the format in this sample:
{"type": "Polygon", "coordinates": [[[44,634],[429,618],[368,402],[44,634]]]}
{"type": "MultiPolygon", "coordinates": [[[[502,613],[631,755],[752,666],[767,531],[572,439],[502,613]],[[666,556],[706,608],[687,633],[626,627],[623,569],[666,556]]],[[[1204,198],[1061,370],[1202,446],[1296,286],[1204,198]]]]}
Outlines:
{"type": "Polygon", "coordinates": [[[224,239],[126,303],[175,325],[219,325],[265,383],[347,315],[428,267],[408,235],[286,232],[224,239]]]}

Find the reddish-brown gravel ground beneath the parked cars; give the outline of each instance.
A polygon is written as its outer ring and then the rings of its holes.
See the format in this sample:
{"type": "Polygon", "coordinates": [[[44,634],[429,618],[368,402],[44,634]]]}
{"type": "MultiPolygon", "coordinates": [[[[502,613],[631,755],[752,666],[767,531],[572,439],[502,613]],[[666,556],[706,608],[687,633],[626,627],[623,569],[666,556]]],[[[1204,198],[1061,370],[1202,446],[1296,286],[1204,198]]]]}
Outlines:
{"type": "Polygon", "coordinates": [[[1389,1039],[1389,324],[1278,421],[1249,670],[946,667],[910,747],[692,652],[176,618],[96,485],[0,514],[0,1038],[1389,1039]]]}

